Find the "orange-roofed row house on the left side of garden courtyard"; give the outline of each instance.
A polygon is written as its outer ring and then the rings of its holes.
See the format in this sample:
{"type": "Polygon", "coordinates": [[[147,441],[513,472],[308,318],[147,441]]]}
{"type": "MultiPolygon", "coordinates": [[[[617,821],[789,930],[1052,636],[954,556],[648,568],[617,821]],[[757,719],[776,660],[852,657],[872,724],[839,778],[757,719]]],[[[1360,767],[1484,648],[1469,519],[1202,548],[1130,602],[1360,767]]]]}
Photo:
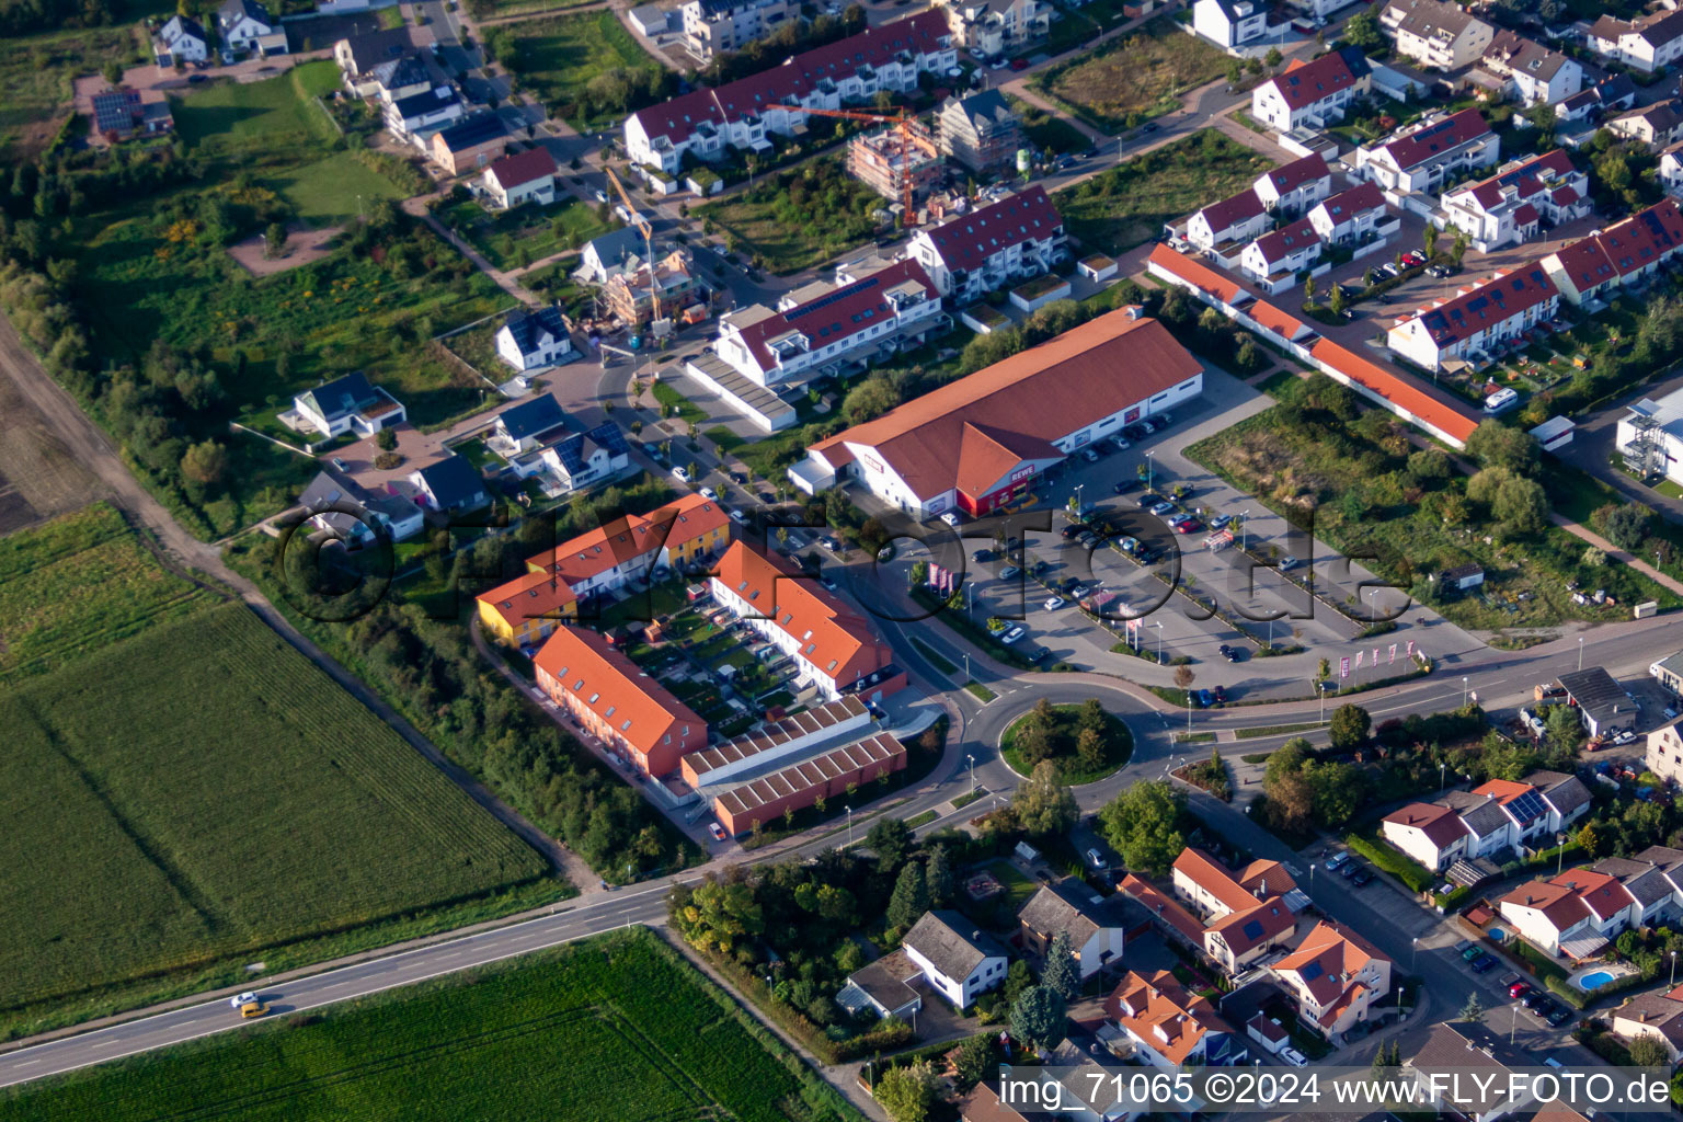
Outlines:
{"type": "Polygon", "coordinates": [[[707,744],[707,722],[596,631],[557,627],[532,664],[539,688],[643,775],[707,744]]]}

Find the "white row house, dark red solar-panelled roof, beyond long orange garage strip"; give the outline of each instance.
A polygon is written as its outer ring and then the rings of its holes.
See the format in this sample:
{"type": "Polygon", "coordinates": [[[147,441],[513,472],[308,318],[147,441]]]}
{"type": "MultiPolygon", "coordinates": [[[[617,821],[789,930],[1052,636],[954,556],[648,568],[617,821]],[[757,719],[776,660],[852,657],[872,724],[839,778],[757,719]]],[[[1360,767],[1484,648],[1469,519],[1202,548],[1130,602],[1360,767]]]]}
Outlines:
{"type": "Polygon", "coordinates": [[[1560,289],[1543,264],[1533,262],[1495,273],[1399,320],[1385,345],[1419,367],[1442,370],[1451,360],[1481,360],[1495,345],[1547,325],[1558,310],[1560,289]]]}

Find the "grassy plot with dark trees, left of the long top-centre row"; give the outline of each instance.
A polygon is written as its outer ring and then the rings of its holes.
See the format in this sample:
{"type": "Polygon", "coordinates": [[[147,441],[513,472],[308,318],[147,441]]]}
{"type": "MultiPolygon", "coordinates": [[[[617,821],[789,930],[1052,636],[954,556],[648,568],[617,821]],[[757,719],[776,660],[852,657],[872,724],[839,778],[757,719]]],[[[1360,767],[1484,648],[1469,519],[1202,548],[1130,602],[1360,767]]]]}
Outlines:
{"type": "MultiPolygon", "coordinates": [[[[520,82],[576,128],[597,128],[624,113],[577,111],[591,79],[614,69],[660,71],[611,10],[522,20],[510,29],[520,82]]],[[[502,56],[498,56],[502,57],[502,56]]]]}

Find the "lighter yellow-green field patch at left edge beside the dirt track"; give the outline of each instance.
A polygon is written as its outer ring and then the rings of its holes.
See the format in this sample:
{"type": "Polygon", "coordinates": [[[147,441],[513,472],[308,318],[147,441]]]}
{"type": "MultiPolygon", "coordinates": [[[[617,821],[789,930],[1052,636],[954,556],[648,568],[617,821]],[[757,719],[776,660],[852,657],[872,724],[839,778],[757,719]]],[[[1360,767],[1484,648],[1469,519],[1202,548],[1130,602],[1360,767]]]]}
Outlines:
{"type": "Polygon", "coordinates": [[[56,669],[209,601],[158,565],[104,503],[0,538],[0,683],[56,669]]]}

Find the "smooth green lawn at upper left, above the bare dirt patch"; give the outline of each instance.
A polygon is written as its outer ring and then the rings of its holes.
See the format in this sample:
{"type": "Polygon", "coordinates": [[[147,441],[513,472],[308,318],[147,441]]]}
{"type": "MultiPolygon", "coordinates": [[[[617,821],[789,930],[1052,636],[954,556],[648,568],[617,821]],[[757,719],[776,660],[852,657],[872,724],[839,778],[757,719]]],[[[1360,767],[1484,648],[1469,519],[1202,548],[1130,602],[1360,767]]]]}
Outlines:
{"type": "Polygon", "coordinates": [[[338,87],[330,59],[305,62],[261,82],[214,82],[173,99],[175,131],[188,148],[320,141],[335,136],[315,98],[338,87]]]}

